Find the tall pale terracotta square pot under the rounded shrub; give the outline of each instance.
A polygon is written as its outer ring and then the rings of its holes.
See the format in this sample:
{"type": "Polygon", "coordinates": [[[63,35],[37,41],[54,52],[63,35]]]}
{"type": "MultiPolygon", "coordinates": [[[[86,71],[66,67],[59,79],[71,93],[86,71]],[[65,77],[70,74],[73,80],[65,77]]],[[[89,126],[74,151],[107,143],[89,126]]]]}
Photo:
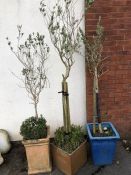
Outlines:
{"type": "Polygon", "coordinates": [[[50,159],[49,128],[47,137],[38,140],[22,141],[28,161],[28,174],[50,172],[52,170],[50,159]]]}

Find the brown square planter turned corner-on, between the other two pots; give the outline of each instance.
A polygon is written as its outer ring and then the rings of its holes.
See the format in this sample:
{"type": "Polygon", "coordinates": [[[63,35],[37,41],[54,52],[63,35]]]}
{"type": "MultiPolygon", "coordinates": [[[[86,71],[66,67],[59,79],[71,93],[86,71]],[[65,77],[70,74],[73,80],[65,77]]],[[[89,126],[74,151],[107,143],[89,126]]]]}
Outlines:
{"type": "Polygon", "coordinates": [[[87,161],[87,142],[83,142],[72,154],[51,145],[53,162],[66,175],[74,175],[87,161]]]}

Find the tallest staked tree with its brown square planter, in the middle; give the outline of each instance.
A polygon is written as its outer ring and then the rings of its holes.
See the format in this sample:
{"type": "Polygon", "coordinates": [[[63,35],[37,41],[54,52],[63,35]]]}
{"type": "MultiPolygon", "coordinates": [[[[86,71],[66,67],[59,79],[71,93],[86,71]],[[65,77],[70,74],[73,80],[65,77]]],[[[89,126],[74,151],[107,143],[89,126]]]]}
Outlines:
{"type": "Polygon", "coordinates": [[[55,132],[52,154],[55,165],[68,175],[75,174],[87,160],[87,145],[82,127],[71,124],[67,79],[74,65],[74,53],[81,46],[80,19],[76,19],[74,0],[57,0],[52,9],[40,2],[40,11],[45,18],[51,41],[65,66],[62,74],[63,126],[55,132]],[[76,161],[77,160],[77,161],[76,161]]]}

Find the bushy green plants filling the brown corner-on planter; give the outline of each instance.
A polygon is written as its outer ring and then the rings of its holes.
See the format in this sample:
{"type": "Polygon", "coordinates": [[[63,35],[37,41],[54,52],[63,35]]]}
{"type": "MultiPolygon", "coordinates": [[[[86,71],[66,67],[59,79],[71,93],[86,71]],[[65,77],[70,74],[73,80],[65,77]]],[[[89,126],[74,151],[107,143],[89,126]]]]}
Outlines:
{"type": "Polygon", "coordinates": [[[54,143],[62,150],[72,153],[85,140],[84,131],[81,126],[71,125],[71,132],[66,134],[64,127],[55,132],[54,143]]]}

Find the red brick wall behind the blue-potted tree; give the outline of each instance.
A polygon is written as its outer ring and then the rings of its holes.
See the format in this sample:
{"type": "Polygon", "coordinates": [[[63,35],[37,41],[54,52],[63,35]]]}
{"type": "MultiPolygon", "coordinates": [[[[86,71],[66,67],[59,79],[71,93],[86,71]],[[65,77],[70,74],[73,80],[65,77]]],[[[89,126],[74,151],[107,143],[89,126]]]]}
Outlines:
{"type": "MultiPolygon", "coordinates": [[[[86,33],[92,35],[102,17],[104,56],[108,72],[101,77],[100,108],[124,137],[131,137],[131,0],[95,0],[86,14],[86,33]]],[[[104,118],[104,117],[103,117],[104,118]]],[[[92,120],[92,77],[87,72],[87,120],[92,120]]]]}

